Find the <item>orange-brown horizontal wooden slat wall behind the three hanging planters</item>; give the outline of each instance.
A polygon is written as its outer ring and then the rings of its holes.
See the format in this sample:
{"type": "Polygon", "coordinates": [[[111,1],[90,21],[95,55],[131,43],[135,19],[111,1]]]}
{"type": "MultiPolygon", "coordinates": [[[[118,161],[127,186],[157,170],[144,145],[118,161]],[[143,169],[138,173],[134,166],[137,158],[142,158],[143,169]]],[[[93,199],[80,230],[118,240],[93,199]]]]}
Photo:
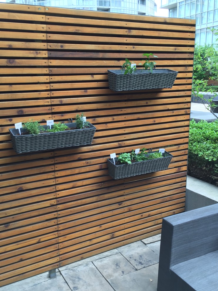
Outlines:
{"type": "Polygon", "coordinates": [[[0,286],[161,232],[184,211],[195,22],[0,3],[0,286]],[[172,89],[113,92],[108,69],[153,52],[172,89]],[[84,112],[92,145],[17,155],[8,129],[84,112]],[[113,180],[106,160],[167,148],[169,168],[113,180]]]}

